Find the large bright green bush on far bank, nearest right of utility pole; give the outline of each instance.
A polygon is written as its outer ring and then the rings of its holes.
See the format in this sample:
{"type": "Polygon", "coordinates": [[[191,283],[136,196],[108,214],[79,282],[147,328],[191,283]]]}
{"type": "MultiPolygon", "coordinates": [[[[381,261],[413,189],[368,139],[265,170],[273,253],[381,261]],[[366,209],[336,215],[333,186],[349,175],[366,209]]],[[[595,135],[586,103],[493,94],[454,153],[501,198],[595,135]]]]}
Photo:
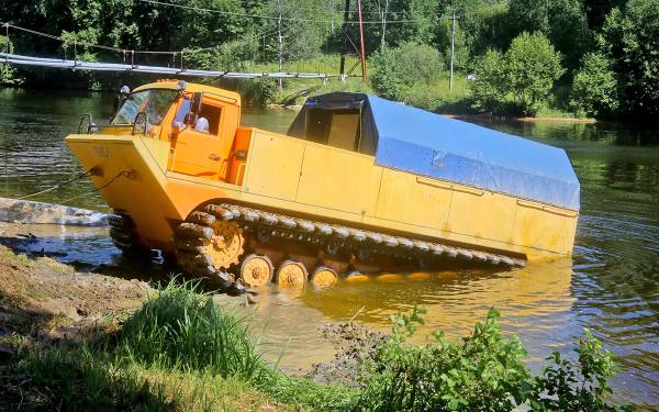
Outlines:
{"type": "Polygon", "coordinates": [[[563,73],[560,55],[540,33],[522,33],[501,56],[489,52],[476,66],[471,91],[479,109],[535,115],[563,73]]]}

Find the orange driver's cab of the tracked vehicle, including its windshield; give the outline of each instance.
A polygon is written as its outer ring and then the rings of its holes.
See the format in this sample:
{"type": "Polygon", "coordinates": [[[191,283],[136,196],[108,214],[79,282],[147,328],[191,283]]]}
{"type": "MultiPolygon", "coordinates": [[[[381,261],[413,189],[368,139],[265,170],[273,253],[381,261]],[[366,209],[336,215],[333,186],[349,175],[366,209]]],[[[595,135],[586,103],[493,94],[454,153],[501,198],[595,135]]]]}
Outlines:
{"type": "Polygon", "coordinates": [[[119,110],[110,124],[99,127],[101,134],[166,142],[168,171],[238,182],[241,176],[235,169],[246,158],[244,142],[236,146],[236,136],[245,135],[238,133],[239,94],[178,80],[160,80],[132,92],[126,89],[122,89],[119,110]]]}

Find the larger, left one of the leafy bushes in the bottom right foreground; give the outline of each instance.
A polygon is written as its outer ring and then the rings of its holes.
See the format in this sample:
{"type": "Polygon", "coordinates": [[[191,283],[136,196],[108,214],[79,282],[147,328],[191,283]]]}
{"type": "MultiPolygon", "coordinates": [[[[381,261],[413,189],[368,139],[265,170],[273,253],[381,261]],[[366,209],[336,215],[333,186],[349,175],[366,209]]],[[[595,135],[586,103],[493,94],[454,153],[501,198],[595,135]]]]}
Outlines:
{"type": "Polygon", "coordinates": [[[426,346],[403,345],[423,313],[392,319],[392,337],[368,366],[357,408],[369,411],[510,411],[528,380],[516,337],[505,338],[491,310],[473,333],[454,343],[442,333],[426,346]]]}

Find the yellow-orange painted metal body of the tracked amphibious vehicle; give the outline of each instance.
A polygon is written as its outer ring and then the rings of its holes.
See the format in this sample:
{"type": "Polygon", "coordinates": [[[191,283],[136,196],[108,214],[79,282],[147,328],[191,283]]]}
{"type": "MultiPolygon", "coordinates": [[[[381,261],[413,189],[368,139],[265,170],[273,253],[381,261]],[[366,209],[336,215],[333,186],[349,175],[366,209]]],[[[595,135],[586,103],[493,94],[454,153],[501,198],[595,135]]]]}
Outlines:
{"type": "MultiPolygon", "coordinates": [[[[146,85],[175,89],[175,81],[146,85]]],[[[204,104],[221,109],[217,135],[172,136],[179,98],[149,135],[130,127],[66,141],[103,199],[129,212],[145,245],[171,249],[172,229],[200,204],[235,201],[428,241],[515,253],[530,259],[570,255],[578,212],[448,181],[386,169],[373,156],[239,127],[239,96],[203,85],[204,104]],[[109,134],[112,133],[112,134],[109,134]]],[[[337,125],[338,127],[338,125],[337,125]]]]}

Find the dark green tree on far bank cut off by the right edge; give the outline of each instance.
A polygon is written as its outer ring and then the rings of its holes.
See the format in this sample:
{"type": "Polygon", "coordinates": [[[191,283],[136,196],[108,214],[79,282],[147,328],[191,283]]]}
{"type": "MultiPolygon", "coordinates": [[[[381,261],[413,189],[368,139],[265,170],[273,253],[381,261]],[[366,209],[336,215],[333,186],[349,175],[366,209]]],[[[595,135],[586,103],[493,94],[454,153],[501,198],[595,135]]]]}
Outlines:
{"type": "Polygon", "coordinates": [[[659,115],[659,0],[629,0],[614,8],[599,44],[621,85],[621,111],[659,115]]]}

